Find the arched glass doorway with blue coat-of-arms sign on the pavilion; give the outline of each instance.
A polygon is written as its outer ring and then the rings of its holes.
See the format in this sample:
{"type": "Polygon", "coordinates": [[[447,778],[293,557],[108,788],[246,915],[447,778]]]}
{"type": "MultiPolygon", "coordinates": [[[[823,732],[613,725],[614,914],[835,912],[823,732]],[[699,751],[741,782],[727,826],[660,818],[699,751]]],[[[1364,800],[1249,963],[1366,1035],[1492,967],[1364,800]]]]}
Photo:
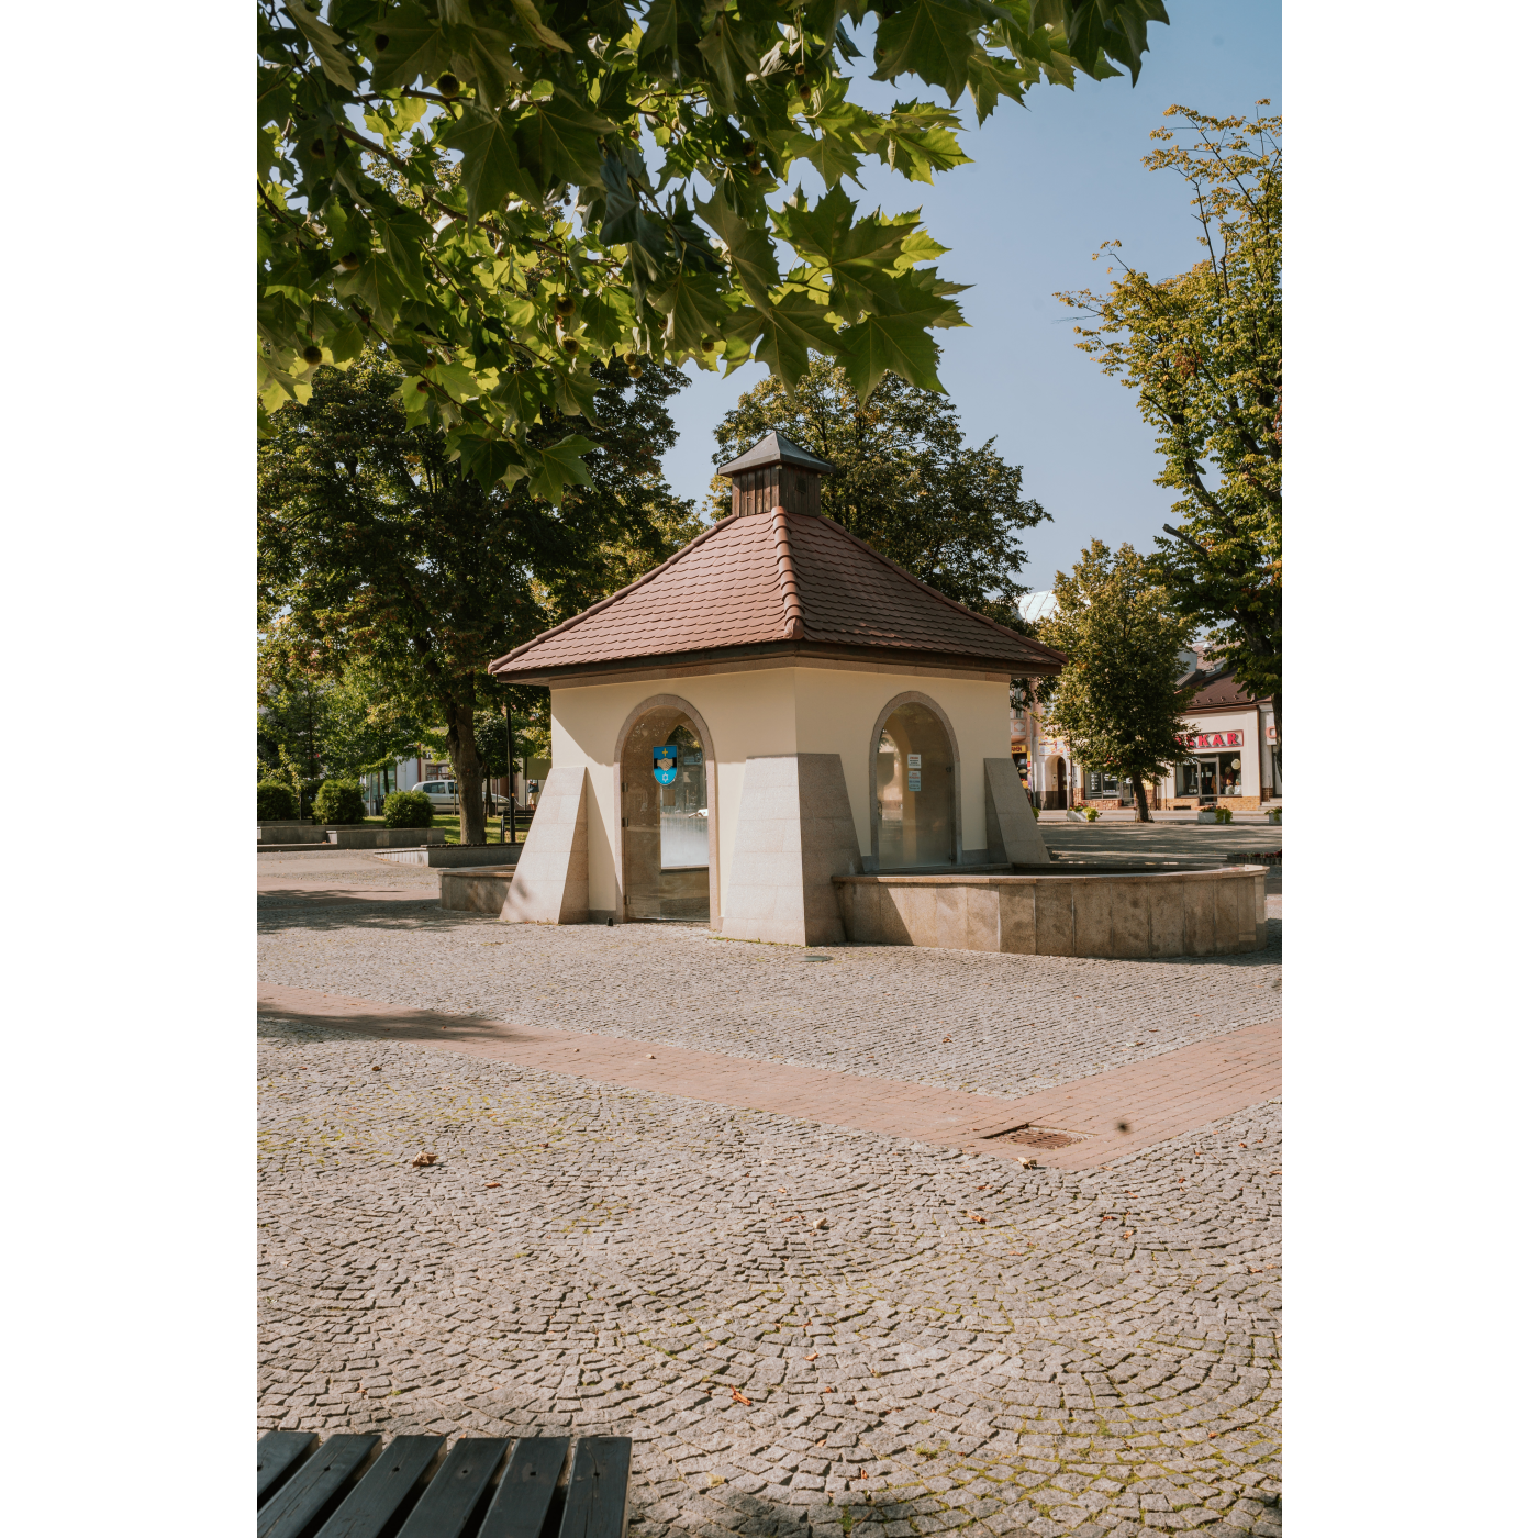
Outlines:
{"type": "Polygon", "coordinates": [[[711,920],[711,801],[687,715],[646,711],[620,754],[624,917],[711,920]]]}

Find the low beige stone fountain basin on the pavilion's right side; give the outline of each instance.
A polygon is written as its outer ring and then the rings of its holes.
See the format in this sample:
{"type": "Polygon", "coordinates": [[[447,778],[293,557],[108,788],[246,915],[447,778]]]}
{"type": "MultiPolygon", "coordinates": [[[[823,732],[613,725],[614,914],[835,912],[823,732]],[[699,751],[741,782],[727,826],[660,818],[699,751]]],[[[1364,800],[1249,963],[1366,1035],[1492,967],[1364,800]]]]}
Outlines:
{"type": "Polygon", "coordinates": [[[852,944],[1044,957],[1206,957],[1266,946],[1266,867],[1054,864],[834,877],[852,944]]]}

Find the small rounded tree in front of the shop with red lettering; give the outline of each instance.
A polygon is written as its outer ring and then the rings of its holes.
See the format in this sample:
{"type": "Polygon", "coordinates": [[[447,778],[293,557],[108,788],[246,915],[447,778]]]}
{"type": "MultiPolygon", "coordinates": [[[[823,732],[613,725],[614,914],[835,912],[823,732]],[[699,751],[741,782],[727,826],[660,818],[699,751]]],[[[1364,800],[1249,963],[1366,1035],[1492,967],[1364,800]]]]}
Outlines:
{"type": "Polygon", "coordinates": [[[1052,592],[1057,612],[1041,621],[1041,640],[1067,663],[1041,680],[1046,724],[1072,743],[1080,763],[1129,775],[1146,823],[1144,781],[1186,757],[1180,734],[1190,694],[1178,680],[1190,621],[1173,612],[1150,561],[1130,544],[1112,555],[1092,540],[1070,574],[1057,574],[1052,592]]]}

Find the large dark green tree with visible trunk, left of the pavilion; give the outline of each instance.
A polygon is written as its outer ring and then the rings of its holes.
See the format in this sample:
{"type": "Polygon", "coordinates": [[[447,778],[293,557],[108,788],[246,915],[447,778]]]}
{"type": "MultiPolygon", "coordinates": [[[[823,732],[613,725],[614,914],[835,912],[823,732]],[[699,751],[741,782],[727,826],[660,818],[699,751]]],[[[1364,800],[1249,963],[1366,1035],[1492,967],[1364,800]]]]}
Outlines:
{"type": "MultiPolygon", "coordinates": [[[[560,508],[523,484],[483,488],[440,432],[408,418],[400,378],[377,357],[325,368],[308,401],[274,415],[260,449],[260,603],[281,618],[269,646],[292,674],[365,667],[381,697],[441,723],[460,837],[478,844],[475,715],[508,697],[486,663],[611,592],[628,563],[671,554],[687,509],[658,455],[677,437],[666,400],[683,377],[597,371],[591,484],[560,508]]],[[[514,691],[514,707],[538,714],[540,697],[514,691]]]]}

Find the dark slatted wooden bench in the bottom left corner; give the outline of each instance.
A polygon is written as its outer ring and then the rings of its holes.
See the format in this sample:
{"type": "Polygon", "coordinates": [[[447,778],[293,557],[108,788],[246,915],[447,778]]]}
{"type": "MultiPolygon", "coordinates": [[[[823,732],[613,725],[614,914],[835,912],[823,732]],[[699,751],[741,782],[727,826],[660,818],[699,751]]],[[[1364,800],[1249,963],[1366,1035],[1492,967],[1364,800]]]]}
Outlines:
{"type": "Polygon", "coordinates": [[[629,1498],[629,1436],[257,1441],[257,1538],[624,1538],[629,1498]]]}

